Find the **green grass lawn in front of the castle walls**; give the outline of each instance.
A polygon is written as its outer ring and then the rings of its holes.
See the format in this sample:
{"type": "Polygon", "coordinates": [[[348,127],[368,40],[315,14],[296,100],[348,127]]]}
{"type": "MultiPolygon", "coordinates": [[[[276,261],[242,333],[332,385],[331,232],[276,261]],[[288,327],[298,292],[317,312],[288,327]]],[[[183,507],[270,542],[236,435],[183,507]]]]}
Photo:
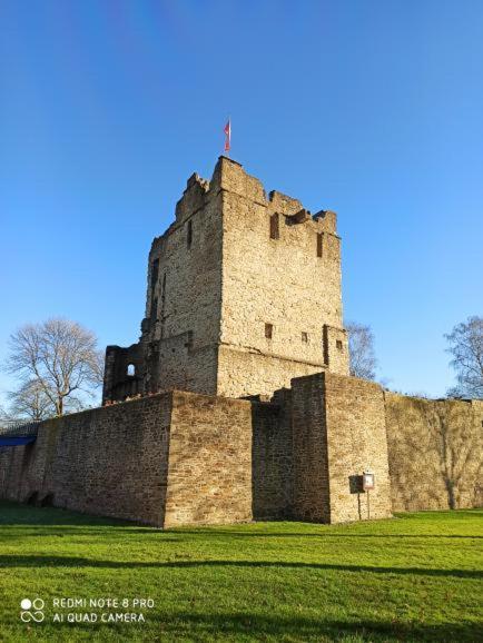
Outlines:
{"type": "Polygon", "coordinates": [[[483,511],[162,532],[0,503],[0,640],[483,641],[482,538],[483,511]],[[36,596],[45,621],[22,623],[36,596]],[[72,612],[56,597],[155,607],[145,623],[52,623],[72,612]]]}

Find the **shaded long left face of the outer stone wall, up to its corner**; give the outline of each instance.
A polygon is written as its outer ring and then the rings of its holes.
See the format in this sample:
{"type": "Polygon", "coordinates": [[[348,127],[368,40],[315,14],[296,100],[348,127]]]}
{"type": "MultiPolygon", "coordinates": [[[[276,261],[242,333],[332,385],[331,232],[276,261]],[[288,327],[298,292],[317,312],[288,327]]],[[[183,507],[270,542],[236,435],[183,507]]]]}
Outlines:
{"type": "Polygon", "coordinates": [[[43,422],[32,445],[6,449],[0,493],[162,525],[170,414],[166,394],[43,422]]]}

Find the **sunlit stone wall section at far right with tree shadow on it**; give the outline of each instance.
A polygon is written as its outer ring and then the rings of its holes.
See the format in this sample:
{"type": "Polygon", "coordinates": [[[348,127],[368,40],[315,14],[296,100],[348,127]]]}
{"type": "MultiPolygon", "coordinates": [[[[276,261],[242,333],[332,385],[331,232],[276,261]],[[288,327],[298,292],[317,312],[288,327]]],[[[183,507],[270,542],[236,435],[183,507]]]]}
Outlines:
{"type": "Polygon", "coordinates": [[[394,511],[483,505],[483,402],[386,393],[394,511]]]}

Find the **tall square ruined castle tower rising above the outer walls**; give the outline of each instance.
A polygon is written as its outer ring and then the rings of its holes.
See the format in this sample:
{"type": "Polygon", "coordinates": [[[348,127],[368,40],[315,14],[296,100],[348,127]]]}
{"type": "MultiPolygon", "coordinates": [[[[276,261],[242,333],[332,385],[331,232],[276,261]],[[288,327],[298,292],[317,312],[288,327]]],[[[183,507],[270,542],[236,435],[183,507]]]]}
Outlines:
{"type": "Polygon", "coordinates": [[[138,344],[108,346],[103,402],[168,388],[244,397],[348,374],[336,215],[265,194],[220,157],[149,253],[138,344]]]}

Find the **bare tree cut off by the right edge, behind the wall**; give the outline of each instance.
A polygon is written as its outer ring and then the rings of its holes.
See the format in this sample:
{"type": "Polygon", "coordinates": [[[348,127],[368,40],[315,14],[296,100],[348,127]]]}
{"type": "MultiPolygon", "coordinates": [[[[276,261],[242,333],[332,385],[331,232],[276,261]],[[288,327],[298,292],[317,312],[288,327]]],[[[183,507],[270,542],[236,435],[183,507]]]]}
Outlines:
{"type": "Polygon", "coordinates": [[[444,336],[453,356],[457,385],[447,393],[451,397],[483,398],[483,317],[469,317],[444,336]]]}

